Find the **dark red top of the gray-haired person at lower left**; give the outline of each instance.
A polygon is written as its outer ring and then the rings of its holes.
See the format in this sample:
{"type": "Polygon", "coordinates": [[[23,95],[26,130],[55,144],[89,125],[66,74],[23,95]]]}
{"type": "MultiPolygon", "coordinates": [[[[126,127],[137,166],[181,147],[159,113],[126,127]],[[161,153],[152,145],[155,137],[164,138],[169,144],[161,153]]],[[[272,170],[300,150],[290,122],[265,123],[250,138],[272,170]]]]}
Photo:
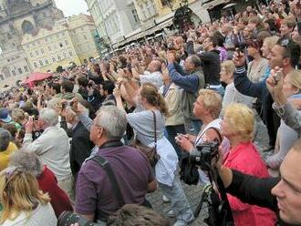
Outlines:
{"type": "Polygon", "coordinates": [[[50,196],[50,203],[56,213],[57,218],[63,211],[73,211],[71,202],[64,190],[61,190],[57,185],[55,174],[44,167],[43,172],[36,178],[40,190],[47,192],[50,196]]]}

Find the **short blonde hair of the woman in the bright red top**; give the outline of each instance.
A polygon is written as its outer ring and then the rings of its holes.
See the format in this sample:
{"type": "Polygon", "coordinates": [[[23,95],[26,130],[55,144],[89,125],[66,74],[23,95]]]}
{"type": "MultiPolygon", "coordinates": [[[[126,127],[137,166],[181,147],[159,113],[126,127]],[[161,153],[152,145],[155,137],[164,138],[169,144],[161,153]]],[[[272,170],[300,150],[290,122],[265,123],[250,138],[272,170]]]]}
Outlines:
{"type": "Polygon", "coordinates": [[[244,104],[231,104],[224,111],[224,118],[243,142],[253,139],[254,112],[244,104]]]}

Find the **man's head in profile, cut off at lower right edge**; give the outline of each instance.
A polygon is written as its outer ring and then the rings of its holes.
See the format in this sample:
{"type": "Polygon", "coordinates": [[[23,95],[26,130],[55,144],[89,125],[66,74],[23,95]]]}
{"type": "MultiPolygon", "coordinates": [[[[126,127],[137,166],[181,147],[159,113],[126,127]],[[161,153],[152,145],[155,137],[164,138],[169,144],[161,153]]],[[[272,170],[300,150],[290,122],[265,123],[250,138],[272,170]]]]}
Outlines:
{"type": "Polygon", "coordinates": [[[281,180],[272,194],[277,197],[280,218],[290,224],[301,224],[301,139],[298,139],[280,166],[281,180]]]}

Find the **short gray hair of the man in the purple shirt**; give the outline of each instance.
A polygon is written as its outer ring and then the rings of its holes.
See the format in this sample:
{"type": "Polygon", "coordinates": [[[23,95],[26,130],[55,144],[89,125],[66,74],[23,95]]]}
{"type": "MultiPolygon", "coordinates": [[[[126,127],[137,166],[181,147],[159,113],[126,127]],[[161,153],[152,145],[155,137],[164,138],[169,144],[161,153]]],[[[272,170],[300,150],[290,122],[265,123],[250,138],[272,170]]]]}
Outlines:
{"type": "Polygon", "coordinates": [[[104,128],[108,139],[121,139],[127,128],[127,117],[115,106],[103,106],[99,109],[96,124],[104,128]]]}

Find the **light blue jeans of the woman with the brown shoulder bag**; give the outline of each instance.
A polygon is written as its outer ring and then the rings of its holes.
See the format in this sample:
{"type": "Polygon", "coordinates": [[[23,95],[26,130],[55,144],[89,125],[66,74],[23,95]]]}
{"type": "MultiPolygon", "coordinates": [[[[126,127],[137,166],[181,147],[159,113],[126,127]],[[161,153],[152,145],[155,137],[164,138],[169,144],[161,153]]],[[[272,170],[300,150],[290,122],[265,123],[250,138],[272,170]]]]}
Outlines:
{"type": "Polygon", "coordinates": [[[174,211],[177,221],[188,222],[193,219],[191,206],[186,198],[180,180],[175,176],[172,186],[158,182],[163,195],[171,200],[171,210],[174,211]]]}

